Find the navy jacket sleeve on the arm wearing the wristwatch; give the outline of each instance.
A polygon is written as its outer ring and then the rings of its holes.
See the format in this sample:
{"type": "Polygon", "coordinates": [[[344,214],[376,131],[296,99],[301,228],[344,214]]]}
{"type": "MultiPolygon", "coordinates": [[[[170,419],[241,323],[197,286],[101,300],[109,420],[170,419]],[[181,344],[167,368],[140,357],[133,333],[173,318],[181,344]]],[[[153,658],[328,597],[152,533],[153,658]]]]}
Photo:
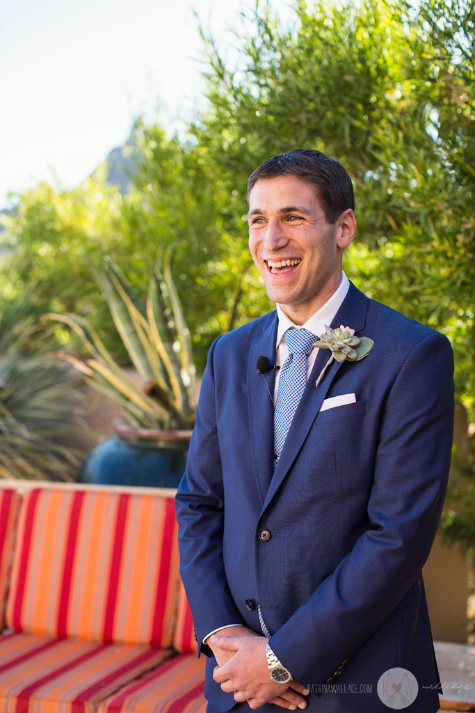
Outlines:
{"type": "Polygon", "coordinates": [[[271,637],[301,682],[324,681],[390,615],[419,575],[447,487],[454,416],[448,340],[407,356],[387,397],[367,513],[371,528],[271,637]]]}

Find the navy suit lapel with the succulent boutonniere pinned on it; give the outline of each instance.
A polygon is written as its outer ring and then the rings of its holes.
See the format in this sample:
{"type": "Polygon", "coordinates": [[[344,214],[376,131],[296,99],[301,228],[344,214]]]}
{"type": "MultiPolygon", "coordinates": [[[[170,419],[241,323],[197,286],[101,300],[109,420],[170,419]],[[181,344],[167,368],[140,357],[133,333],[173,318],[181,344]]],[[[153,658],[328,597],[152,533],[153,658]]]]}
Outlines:
{"type": "MultiPolygon", "coordinates": [[[[338,309],[335,319],[333,319],[330,327],[340,327],[340,324],[343,324],[344,327],[351,327],[352,329],[355,329],[355,334],[357,334],[357,332],[360,332],[365,327],[368,304],[369,301],[365,294],[362,294],[362,292],[360,292],[360,290],[350,282],[348,294],[343,300],[340,309],[338,309]]],[[[313,421],[315,421],[318,411],[320,411],[320,406],[323,403],[323,399],[325,399],[327,391],[330,388],[330,384],[333,379],[335,379],[339,369],[343,366],[345,369],[348,368],[348,364],[345,364],[345,362],[340,364],[338,361],[333,360],[332,364],[328,367],[320,386],[318,386],[318,389],[315,389],[315,381],[318,378],[318,374],[320,374],[320,371],[323,369],[323,366],[325,366],[325,363],[328,361],[329,356],[330,352],[327,349],[318,350],[315,364],[313,365],[312,372],[306,384],[306,389],[303,392],[301,401],[298,404],[295,415],[293,416],[291,428],[289,429],[286,438],[286,443],[283,446],[281,457],[279,458],[276,469],[273,473],[271,485],[266,493],[262,510],[268,506],[268,503],[276,494],[283,479],[286,477],[293,461],[295,461],[298,452],[303,446],[303,442],[308,436],[308,431],[310,431],[313,421]]],[[[350,368],[351,366],[352,365],[350,365],[350,368]]]]}

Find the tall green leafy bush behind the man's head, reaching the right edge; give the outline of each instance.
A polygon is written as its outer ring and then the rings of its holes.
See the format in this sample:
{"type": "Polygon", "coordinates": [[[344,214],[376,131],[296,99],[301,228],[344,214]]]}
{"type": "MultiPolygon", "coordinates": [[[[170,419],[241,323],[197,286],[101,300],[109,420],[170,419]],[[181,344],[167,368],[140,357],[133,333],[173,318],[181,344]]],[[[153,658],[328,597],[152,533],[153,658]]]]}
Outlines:
{"type": "MultiPolygon", "coordinates": [[[[422,0],[414,10],[299,0],[295,10],[295,26],[281,29],[258,3],[236,66],[205,38],[209,107],[194,136],[229,193],[281,150],[316,148],[342,161],[359,227],[345,270],[370,296],[451,339],[473,438],[474,2],[422,0]]],[[[457,483],[451,531],[473,544],[463,523],[475,520],[474,487],[457,483]]]]}

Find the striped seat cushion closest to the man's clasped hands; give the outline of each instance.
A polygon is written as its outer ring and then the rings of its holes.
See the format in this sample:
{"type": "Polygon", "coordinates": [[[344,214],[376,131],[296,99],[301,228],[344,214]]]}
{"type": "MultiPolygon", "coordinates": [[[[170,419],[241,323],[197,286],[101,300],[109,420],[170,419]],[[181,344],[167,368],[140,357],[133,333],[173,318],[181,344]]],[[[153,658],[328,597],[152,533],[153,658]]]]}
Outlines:
{"type": "Polygon", "coordinates": [[[204,662],[204,656],[177,656],[122,688],[98,713],[204,713],[204,662]]]}

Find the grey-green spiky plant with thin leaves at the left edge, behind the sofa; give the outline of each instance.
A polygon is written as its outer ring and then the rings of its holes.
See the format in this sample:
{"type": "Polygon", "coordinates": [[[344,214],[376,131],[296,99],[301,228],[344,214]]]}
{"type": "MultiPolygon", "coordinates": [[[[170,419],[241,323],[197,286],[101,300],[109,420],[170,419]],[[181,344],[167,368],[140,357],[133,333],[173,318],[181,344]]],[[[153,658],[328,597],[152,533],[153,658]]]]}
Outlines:
{"type": "Polygon", "coordinates": [[[71,448],[78,380],[48,354],[33,300],[27,289],[0,314],[0,478],[71,480],[82,455],[71,448]]]}

